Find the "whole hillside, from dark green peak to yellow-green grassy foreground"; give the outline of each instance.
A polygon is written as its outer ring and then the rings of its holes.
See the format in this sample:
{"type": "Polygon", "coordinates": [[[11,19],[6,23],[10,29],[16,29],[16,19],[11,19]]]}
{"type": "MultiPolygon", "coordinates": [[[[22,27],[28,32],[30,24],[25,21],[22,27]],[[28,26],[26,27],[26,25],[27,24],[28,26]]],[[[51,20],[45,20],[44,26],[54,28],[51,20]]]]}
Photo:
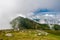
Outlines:
{"type": "Polygon", "coordinates": [[[0,30],[0,40],[60,40],[59,25],[54,25],[56,30],[50,30],[47,24],[39,24],[33,20],[16,17],[10,24],[12,30],[0,30]]]}

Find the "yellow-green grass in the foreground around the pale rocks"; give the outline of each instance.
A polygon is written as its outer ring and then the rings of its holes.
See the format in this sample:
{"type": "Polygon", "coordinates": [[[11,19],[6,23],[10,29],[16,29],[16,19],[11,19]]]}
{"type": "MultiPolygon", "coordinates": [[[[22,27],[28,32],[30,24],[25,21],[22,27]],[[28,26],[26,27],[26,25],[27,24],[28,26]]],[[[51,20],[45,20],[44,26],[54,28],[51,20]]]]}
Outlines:
{"type": "Polygon", "coordinates": [[[38,36],[36,30],[23,30],[21,31],[12,31],[10,33],[13,34],[11,37],[5,36],[7,31],[0,32],[0,40],[60,40],[60,36],[49,33],[47,36],[41,35],[38,36]]]}

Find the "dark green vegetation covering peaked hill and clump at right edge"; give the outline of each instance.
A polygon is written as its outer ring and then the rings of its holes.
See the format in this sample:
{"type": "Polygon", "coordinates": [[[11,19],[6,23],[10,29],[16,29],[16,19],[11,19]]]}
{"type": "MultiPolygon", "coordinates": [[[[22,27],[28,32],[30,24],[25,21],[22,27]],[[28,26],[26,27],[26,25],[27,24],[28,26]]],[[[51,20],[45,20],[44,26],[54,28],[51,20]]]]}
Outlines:
{"type": "MultiPolygon", "coordinates": [[[[33,20],[30,20],[28,18],[23,17],[17,17],[13,19],[10,24],[13,28],[17,26],[19,29],[39,29],[39,30],[50,30],[49,26],[47,24],[39,24],[37,22],[34,22],[33,20]],[[16,25],[17,24],[17,25],[16,25]]],[[[54,25],[55,30],[60,30],[60,25],[54,25]]]]}

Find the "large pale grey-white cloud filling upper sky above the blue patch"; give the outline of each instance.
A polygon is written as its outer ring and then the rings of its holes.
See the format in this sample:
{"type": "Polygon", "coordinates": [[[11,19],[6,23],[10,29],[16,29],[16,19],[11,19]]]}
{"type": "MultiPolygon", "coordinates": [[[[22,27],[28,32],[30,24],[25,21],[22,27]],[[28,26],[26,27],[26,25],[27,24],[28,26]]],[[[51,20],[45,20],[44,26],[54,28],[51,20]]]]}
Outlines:
{"type": "Polygon", "coordinates": [[[38,8],[57,9],[58,11],[60,8],[58,3],[60,3],[59,0],[0,0],[0,27],[10,28],[10,18],[18,14],[33,15],[31,12],[38,8]]]}

